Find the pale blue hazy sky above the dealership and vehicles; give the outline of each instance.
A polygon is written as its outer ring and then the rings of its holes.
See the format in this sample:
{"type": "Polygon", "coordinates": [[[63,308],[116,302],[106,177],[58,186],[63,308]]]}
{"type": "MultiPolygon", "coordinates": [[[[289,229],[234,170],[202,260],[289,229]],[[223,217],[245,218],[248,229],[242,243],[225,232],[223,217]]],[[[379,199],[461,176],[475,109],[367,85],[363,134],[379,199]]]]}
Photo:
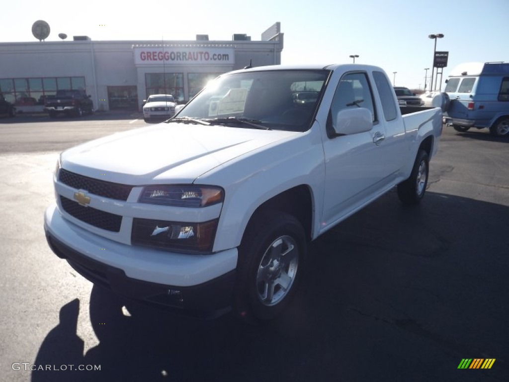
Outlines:
{"type": "MultiPolygon", "coordinates": [[[[395,86],[423,89],[425,68],[433,66],[437,51],[448,51],[443,80],[465,62],[509,62],[507,28],[509,0],[89,0],[9,1],[2,6],[3,42],[37,42],[32,24],[45,20],[51,32],[111,40],[230,41],[234,33],[261,40],[261,34],[279,21],[284,33],[281,64],[356,63],[382,67],[395,86]],[[393,74],[393,72],[396,72],[393,74]]],[[[44,43],[44,42],[41,42],[44,43]]],[[[1,70],[0,57],[0,70],[1,70]]],[[[427,79],[429,89],[429,78],[427,79]]],[[[443,86],[442,86],[443,89],[443,86]]]]}

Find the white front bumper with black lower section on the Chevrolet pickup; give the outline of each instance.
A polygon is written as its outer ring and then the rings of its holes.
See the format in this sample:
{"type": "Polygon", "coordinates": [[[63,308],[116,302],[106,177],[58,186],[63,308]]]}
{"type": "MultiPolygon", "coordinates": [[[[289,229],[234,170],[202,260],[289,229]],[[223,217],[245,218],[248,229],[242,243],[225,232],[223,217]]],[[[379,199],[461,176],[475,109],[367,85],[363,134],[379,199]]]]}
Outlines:
{"type": "Polygon", "coordinates": [[[178,314],[212,318],[230,310],[236,249],[184,255],[133,247],[67,222],[55,207],[44,229],[51,250],[94,284],[178,314]]]}

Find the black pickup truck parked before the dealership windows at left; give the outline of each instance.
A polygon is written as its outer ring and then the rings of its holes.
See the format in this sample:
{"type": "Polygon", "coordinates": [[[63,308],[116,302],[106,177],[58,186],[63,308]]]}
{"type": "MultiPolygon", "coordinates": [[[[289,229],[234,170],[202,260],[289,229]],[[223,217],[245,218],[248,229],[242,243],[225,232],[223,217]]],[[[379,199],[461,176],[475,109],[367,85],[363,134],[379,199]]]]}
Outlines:
{"type": "Polygon", "coordinates": [[[83,113],[94,113],[94,103],[84,90],[57,90],[53,97],[46,98],[44,109],[51,118],[59,114],[81,117],[83,113]]]}

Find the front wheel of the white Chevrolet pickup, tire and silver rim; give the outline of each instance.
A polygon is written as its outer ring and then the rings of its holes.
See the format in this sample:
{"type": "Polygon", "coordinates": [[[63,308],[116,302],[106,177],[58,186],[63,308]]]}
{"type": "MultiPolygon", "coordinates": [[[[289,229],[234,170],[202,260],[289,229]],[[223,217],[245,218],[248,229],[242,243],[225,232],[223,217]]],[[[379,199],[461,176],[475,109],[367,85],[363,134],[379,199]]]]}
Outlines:
{"type": "Polygon", "coordinates": [[[304,229],[285,212],[253,217],[239,248],[234,305],[240,319],[258,323],[277,316],[290,302],[306,255],[304,229]]]}

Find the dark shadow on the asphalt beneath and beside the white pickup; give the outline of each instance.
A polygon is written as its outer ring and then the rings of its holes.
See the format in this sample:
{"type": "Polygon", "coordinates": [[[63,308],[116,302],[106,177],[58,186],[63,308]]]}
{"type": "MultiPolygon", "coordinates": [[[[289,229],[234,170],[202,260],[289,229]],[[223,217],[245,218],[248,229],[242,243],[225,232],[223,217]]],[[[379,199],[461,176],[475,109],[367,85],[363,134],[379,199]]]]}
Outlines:
{"type": "Polygon", "coordinates": [[[275,321],[189,319],[94,286],[99,344],[83,352],[87,307],[74,299],[34,364],[101,370],[36,370],[32,381],[508,380],[509,207],[429,192],[406,208],[394,194],[311,245],[299,292],[275,321]],[[463,358],[496,362],[458,370],[463,358]]]}

